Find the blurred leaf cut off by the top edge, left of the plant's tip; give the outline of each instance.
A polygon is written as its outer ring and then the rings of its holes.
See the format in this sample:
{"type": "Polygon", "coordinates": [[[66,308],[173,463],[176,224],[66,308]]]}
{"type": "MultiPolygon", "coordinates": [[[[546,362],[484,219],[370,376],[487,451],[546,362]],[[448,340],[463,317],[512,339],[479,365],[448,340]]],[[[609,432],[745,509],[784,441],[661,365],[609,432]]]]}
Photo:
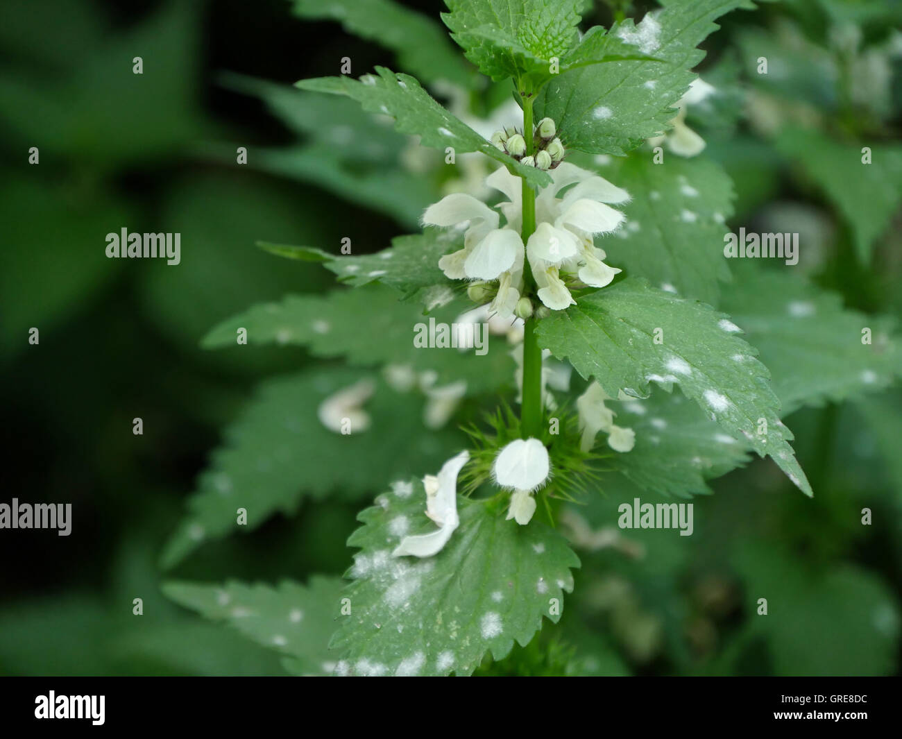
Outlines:
{"type": "Polygon", "coordinates": [[[473,75],[448,42],[444,29],[391,0],[293,0],[292,12],[301,18],[342,23],[346,32],[394,51],[401,69],[428,83],[472,84],[473,75]]]}

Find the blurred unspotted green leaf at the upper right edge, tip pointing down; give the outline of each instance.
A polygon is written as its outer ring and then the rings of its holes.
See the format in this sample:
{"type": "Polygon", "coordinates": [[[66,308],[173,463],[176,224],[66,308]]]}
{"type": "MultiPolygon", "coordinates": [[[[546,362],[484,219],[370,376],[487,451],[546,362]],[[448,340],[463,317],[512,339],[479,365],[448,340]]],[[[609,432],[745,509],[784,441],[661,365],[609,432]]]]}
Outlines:
{"type": "Polygon", "coordinates": [[[800,162],[851,227],[862,263],[870,263],[874,241],[888,228],[902,201],[902,146],[870,146],[871,163],[861,162],[859,144],[836,143],[811,130],[786,129],[777,147],[800,162]]]}

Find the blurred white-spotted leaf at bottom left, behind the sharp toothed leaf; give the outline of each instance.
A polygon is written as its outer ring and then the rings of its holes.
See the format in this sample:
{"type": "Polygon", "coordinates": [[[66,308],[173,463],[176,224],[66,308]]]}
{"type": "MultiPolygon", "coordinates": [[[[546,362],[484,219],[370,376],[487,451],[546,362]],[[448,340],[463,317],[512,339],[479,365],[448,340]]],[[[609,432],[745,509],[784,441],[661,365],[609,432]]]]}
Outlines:
{"type": "Polygon", "coordinates": [[[289,580],[278,587],[168,582],[163,593],[179,605],[220,621],[253,642],[285,655],[295,674],[327,674],[328,640],[339,616],[342,582],[337,577],[311,577],[307,586],[289,580]]]}

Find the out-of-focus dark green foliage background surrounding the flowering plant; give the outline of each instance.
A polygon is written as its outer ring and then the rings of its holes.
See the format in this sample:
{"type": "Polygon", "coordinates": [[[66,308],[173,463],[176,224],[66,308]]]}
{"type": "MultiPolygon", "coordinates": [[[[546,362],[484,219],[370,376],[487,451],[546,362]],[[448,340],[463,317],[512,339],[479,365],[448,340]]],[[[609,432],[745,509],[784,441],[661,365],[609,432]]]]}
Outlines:
{"type": "MultiPolygon", "coordinates": [[[[434,19],[444,7],[405,5],[434,19]]],[[[824,18],[848,15],[864,29],[864,44],[878,46],[888,23],[897,26],[897,11],[887,3],[818,6],[817,14],[802,2],[733,14],[709,39],[703,77],[725,87],[742,79],[755,103],[739,121],[739,96],[723,121],[708,111],[709,152],[736,182],[735,227],[807,229],[817,258],[800,269],[851,308],[902,317],[898,213],[864,266],[831,193],[799,166],[795,150],[778,145],[790,122],[857,128],[853,134],[898,145],[902,55],[888,55],[888,84],[865,100],[871,117],[855,101],[843,105],[836,79],[818,66],[835,55],[824,18]],[[765,46],[787,74],[744,79],[743,49],[759,55],[765,46]]],[[[611,17],[602,4],[593,13],[596,22],[611,17]]],[[[433,187],[416,185],[416,162],[398,169],[399,152],[391,172],[379,162],[337,165],[329,148],[335,125],[292,113],[290,103],[280,115],[287,88],[248,77],[287,85],[335,74],[344,56],[358,74],[394,57],[336,23],[292,17],[282,0],[7,0],[2,14],[2,500],[74,510],[69,537],[0,531],[0,673],[283,674],[277,655],[171,604],[160,582],[340,574],[356,505],[303,505],[252,536],[207,545],[171,573],[161,572],[159,557],[220,430],[253,385],[312,361],[287,347],[198,348],[208,328],[254,302],[334,283],[317,265],[281,261],[254,242],[337,251],[349,236],[355,252],[377,251],[415,228],[433,187]],[[143,75],[132,73],[135,56],[143,75]],[[28,163],[32,146],[36,165],[28,163]],[[235,164],[237,146],[249,149],[246,167],[235,164]],[[373,191],[376,205],[361,205],[373,191]],[[123,226],[179,232],[181,263],[106,259],[106,233],[123,226]],[[28,343],[32,327],[38,346],[28,343]],[[135,417],[143,436],[132,433],[135,417]],[[143,598],[141,617],[132,614],[135,597],[143,598]]],[[[471,101],[474,112],[506,95],[484,91],[471,101]]],[[[642,556],[583,556],[567,633],[603,655],[585,670],[899,671],[902,394],[798,411],[788,425],[814,504],[756,462],[717,481],[713,497],[696,499],[691,545],[635,531],[642,556]],[[865,506],[870,527],[859,523],[865,506]],[[775,572],[794,614],[762,633],[741,602],[775,572]],[[832,651],[825,654],[824,643],[832,651]]],[[[597,503],[591,518],[610,520],[605,506],[616,503],[597,503]]],[[[554,671],[552,631],[497,669],[554,671]]]]}

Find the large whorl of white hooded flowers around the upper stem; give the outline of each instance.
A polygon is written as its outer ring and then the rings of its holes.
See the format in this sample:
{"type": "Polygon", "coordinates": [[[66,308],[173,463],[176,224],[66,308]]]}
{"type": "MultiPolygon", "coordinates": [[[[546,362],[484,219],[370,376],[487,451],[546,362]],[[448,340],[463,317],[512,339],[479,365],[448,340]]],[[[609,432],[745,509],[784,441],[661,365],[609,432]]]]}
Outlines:
{"type": "Polygon", "coordinates": [[[590,287],[609,284],[619,269],[603,263],[606,254],[593,244],[593,236],[617,229],[621,211],[607,203],[630,199],[626,190],[615,187],[593,172],[562,162],[549,171],[552,183],[536,199],[536,231],[524,250],[522,227],[522,183],[504,167],[492,172],[486,184],[508,199],[498,208],[507,224],[499,228],[498,214],[482,201],[456,193],[427,208],[423,223],[430,226],[464,226],[464,248],[446,254],[438,266],[451,280],[497,280],[498,292],[491,310],[502,319],[511,319],[523,291],[523,267],[529,259],[538,285],[538,298],[551,309],[565,309],[575,302],[560,273],[575,273],[590,287]],[[557,195],[568,186],[562,198],[557,195]]]}

